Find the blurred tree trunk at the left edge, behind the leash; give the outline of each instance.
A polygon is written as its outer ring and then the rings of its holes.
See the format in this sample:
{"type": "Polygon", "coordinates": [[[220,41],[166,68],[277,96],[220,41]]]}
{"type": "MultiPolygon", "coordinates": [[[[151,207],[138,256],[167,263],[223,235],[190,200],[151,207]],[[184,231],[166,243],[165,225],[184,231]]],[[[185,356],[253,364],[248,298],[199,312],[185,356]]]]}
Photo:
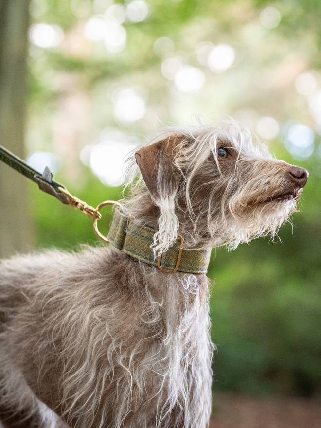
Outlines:
{"type": "MultiPolygon", "coordinates": [[[[24,159],[29,0],[0,0],[0,144],[24,159]]],[[[0,257],[33,247],[27,178],[0,162],[0,257]]]]}

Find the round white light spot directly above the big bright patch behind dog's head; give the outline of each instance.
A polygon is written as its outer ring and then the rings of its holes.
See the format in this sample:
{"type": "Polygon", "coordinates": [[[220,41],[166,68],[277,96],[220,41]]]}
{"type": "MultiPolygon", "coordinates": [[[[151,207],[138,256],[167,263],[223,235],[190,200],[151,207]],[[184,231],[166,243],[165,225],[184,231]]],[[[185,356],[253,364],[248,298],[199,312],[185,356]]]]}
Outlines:
{"type": "Polygon", "coordinates": [[[145,101],[133,89],[121,89],[114,98],[115,115],[122,123],[130,124],[145,115],[145,101]]]}

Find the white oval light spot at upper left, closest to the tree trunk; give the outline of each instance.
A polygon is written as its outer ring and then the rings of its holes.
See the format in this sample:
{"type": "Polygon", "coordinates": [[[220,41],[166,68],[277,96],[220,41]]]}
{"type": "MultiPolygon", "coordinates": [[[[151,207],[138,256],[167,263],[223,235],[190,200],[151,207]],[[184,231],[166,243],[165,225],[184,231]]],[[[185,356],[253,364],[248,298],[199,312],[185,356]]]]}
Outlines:
{"type": "Polygon", "coordinates": [[[64,39],[64,32],[58,25],[34,24],[29,30],[30,41],[40,48],[54,48],[64,39]]]}

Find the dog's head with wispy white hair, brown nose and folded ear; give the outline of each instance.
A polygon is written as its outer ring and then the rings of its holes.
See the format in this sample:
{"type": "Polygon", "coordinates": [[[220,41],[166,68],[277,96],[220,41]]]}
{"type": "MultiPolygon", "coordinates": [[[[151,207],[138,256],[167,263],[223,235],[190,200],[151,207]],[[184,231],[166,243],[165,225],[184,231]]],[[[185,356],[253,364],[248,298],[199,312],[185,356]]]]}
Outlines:
{"type": "Polygon", "coordinates": [[[135,154],[143,181],[159,207],[153,248],[160,254],[179,233],[234,248],[275,235],[296,210],[308,172],[275,160],[234,121],[199,128],[165,128],[135,154]]]}

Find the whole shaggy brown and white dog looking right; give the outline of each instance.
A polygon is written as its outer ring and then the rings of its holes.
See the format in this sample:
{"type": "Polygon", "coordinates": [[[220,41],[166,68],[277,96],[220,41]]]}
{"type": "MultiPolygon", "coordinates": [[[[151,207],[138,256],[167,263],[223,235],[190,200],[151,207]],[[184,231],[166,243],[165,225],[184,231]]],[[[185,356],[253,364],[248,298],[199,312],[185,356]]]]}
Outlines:
{"type": "Polygon", "coordinates": [[[116,210],[133,249],[114,236],[110,247],[1,261],[6,428],[208,426],[210,249],[275,236],[308,172],[232,120],[163,128],[133,159],[116,210]],[[147,256],[136,248],[144,239],[147,256]]]}

